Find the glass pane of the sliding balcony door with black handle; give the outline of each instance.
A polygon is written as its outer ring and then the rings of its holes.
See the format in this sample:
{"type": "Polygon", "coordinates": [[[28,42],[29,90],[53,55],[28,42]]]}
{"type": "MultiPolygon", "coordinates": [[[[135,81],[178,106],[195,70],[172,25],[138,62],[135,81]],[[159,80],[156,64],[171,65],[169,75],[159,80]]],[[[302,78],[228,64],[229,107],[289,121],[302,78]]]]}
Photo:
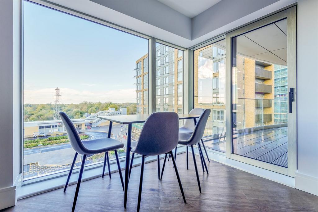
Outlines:
{"type": "Polygon", "coordinates": [[[287,19],[232,48],[233,153],[287,167],[287,19]]]}

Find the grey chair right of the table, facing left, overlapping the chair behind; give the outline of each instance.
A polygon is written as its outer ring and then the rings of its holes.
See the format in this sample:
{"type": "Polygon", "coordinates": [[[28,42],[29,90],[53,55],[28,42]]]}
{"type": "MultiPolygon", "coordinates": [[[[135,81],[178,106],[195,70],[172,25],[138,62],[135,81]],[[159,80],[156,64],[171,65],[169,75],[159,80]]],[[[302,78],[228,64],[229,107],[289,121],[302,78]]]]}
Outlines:
{"type": "MultiPolygon", "coordinates": [[[[206,123],[208,121],[210,113],[211,113],[211,109],[205,109],[204,110],[204,112],[200,115],[198,121],[196,122],[196,125],[194,127],[194,130],[193,130],[192,134],[190,134],[190,133],[179,133],[179,142],[178,143],[191,147],[193,163],[194,163],[194,168],[195,168],[196,175],[197,175],[197,182],[198,182],[200,193],[201,193],[201,185],[200,185],[200,179],[199,179],[199,174],[198,174],[198,170],[197,170],[197,162],[196,162],[196,159],[195,159],[193,145],[198,144],[200,142],[200,140],[202,139],[202,136],[204,134],[204,129],[205,129],[206,123]]],[[[198,150],[199,150],[200,158],[202,158],[203,154],[202,154],[201,145],[198,145],[198,150]]],[[[166,158],[167,158],[167,154],[166,154],[165,159],[163,161],[163,166],[162,166],[162,171],[161,171],[161,179],[162,179],[164,166],[165,166],[165,163],[166,163],[166,158]]],[[[207,170],[207,167],[206,167],[205,163],[204,163],[204,166],[205,166],[205,168],[207,170]]]]}

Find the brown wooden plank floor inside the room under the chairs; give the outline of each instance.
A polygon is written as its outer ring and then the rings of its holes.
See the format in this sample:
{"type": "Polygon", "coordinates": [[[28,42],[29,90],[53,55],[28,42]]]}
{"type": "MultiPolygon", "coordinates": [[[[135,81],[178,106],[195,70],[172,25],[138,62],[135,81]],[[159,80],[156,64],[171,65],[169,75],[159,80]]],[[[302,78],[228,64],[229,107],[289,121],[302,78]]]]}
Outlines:
{"type": "MultiPolygon", "coordinates": [[[[172,161],[167,161],[162,181],[157,162],[145,164],[141,211],[318,211],[318,197],[211,161],[210,174],[202,173],[197,156],[202,194],[199,193],[191,155],[177,155],[177,166],[187,203],[183,202],[172,161]]],[[[161,160],[162,165],[162,160],[161,160]]],[[[81,184],[76,211],[136,211],[140,166],[133,168],[127,209],[118,173],[112,179],[96,178],[81,184]]],[[[5,211],[71,211],[75,185],[19,200],[5,211]]]]}

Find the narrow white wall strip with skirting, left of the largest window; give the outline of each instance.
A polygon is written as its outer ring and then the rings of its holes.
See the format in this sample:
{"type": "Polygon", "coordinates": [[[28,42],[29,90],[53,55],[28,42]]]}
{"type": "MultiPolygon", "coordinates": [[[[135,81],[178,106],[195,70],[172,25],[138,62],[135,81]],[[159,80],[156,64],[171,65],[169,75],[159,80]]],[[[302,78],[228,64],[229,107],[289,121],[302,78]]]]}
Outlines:
{"type": "Polygon", "coordinates": [[[18,6],[17,0],[0,1],[0,209],[16,203],[21,176],[18,6]]]}

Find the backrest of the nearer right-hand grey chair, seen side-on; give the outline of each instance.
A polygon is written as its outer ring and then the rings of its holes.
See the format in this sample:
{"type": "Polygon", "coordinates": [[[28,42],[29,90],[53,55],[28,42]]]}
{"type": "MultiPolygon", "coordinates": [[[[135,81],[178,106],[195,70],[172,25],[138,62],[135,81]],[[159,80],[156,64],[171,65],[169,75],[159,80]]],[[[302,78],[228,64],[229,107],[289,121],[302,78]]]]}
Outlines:
{"type": "Polygon", "coordinates": [[[211,109],[205,109],[204,112],[200,115],[199,120],[197,121],[197,124],[194,127],[194,131],[190,139],[188,140],[188,145],[197,144],[202,139],[210,113],[211,109]]]}

